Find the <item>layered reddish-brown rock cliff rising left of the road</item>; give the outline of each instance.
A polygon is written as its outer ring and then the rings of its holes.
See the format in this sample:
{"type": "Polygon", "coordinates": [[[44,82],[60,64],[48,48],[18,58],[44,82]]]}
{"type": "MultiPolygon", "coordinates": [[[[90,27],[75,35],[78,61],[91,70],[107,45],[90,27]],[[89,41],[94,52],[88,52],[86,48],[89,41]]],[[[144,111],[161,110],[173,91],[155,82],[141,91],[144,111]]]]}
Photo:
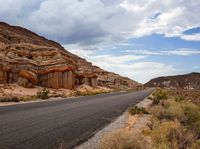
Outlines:
{"type": "Polygon", "coordinates": [[[75,86],[130,88],[138,83],[106,72],[60,44],[27,29],[0,23],[0,83],[49,88],[75,86]]]}

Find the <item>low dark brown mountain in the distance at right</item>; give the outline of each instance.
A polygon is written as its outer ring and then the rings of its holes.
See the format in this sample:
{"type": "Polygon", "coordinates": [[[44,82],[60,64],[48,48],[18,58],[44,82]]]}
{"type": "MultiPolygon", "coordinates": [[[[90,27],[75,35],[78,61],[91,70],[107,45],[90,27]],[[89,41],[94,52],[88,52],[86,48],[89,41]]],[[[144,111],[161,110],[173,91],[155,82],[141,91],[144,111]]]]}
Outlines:
{"type": "Polygon", "coordinates": [[[200,90],[200,73],[159,77],[150,80],[145,86],[200,90]]]}

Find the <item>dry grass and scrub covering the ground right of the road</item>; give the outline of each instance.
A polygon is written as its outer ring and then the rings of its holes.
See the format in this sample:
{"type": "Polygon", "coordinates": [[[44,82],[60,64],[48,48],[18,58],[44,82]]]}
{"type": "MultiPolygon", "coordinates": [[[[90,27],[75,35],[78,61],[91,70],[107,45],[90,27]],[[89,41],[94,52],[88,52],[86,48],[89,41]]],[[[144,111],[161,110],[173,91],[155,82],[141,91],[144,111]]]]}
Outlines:
{"type": "MultiPolygon", "coordinates": [[[[117,130],[104,137],[100,149],[200,149],[200,93],[159,89],[153,95],[149,129],[138,136],[117,130]]],[[[136,107],[131,111],[143,113],[136,107]]]]}

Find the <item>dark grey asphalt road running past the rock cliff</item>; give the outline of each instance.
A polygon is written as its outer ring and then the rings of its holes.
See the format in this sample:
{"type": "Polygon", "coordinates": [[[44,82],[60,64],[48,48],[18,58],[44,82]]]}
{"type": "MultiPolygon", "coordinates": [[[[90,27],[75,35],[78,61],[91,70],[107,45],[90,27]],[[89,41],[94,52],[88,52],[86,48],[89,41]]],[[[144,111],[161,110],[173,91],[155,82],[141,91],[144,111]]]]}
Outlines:
{"type": "Polygon", "coordinates": [[[68,148],[85,141],[152,89],[0,107],[0,149],[68,148]]]}

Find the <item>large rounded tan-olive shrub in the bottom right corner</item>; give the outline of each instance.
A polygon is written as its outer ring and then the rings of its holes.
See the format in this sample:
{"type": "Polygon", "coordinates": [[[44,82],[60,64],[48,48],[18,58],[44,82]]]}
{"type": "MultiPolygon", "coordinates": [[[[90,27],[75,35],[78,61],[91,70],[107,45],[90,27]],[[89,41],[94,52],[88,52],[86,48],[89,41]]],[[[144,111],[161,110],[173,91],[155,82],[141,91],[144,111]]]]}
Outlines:
{"type": "Polygon", "coordinates": [[[187,149],[192,146],[195,136],[178,121],[162,122],[151,133],[152,148],[187,149]]]}

